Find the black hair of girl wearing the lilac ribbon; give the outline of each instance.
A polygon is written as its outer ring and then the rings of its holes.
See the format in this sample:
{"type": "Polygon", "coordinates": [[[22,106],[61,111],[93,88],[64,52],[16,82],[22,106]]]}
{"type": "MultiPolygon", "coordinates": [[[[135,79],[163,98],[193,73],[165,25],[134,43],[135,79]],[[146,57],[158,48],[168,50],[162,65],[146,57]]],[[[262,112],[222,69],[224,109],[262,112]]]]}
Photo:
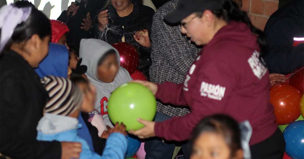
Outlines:
{"type": "Polygon", "coordinates": [[[12,43],[21,43],[29,40],[34,34],[43,39],[46,36],[52,35],[52,29],[50,20],[41,11],[32,6],[28,19],[16,26],[12,37],[6,43],[2,52],[9,50],[12,43]]]}

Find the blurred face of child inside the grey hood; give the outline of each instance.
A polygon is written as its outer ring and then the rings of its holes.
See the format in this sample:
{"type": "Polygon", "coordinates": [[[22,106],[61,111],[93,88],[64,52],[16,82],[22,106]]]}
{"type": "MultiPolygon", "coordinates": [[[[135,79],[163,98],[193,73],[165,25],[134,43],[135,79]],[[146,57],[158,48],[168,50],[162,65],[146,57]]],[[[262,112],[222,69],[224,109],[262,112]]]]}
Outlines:
{"type": "Polygon", "coordinates": [[[114,81],[119,69],[116,55],[112,54],[105,58],[103,63],[97,67],[97,78],[106,83],[114,81]]]}

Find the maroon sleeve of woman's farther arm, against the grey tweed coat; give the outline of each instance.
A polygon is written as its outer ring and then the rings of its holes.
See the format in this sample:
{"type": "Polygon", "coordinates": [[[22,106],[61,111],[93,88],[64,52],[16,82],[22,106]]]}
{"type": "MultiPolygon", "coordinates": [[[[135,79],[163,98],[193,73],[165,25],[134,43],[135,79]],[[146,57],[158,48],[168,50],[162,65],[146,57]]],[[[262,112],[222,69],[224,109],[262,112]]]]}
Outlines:
{"type": "Polygon", "coordinates": [[[161,100],[163,103],[170,103],[178,106],[186,106],[187,103],[183,96],[183,84],[174,84],[172,82],[164,82],[164,84],[157,84],[157,92],[155,98],[161,100]]]}

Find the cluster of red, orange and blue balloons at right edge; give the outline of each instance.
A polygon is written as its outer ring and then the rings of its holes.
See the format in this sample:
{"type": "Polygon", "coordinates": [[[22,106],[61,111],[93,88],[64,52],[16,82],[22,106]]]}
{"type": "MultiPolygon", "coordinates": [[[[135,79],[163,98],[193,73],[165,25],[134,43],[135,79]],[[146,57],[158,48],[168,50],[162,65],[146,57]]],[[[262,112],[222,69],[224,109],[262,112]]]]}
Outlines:
{"type": "Polygon", "coordinates": [[[304,67],[290,75],[289,84],[271,87],[270,102],[275,108],[276,122],[283,132],[286,147],[284,159],[304,158],[304,67]]]}

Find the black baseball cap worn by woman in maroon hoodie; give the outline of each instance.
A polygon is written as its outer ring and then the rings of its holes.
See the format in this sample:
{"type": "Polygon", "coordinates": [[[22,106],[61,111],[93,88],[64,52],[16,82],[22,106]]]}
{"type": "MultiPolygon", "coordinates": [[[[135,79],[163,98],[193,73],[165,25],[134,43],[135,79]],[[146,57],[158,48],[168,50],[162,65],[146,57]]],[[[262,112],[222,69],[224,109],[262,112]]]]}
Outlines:
{"type": "Polygon", "coordinates": [[[223,9],[223,2],[224,0],[178,0],[176,9],[164,16],[164,20],[176,24],[194,12],[223,9]]]}

